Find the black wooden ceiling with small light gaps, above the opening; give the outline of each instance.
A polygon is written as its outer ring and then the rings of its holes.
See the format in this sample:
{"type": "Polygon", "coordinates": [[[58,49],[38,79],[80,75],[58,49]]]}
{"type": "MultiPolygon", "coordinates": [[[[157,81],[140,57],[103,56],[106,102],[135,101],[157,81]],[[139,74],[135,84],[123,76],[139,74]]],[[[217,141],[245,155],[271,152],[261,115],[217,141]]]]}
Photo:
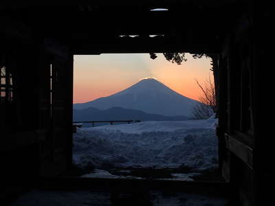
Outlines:
{"type": "Polygon", "coordinates": [[[32,33],[71,45],[74,54],[219,52],[245,1],[96,1],[93,5],[1,6],[32,33]],[[166,11],[151,11],[166,8],[166,11]],[[129,36],[131,35],[131,36],[129,36]],[[154,37],[152,36],[154,35],[154,37]],[[155,36],[157,35],[157,36],[155,36]]]}

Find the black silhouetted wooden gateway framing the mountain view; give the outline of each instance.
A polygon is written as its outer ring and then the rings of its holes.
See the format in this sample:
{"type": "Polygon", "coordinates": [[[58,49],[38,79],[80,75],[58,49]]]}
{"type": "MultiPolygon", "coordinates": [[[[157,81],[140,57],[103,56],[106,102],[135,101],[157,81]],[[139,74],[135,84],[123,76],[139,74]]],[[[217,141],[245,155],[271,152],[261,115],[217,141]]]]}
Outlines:
{"type": "Polygon", "coordinates": [[[270,128],[260,124],[269,109],[260,105],[260,71],[272,65],[266,59],[272,54],[265,46],[272,41],[265,32],[272,25],[267,6],[259,8],[257,19],[245,0],[10,5],[0,12],[1,198],[50,181],[51,188],[104,183],[113,188],[220,190],[241,205],[268,200],[272,138],[263,135],[270,128]],[[261,34],[254,36],[255,30],[261,34]],[[212,56],[219,166],[228,183],[46,179],[72,165],[73,55],[141,52],[152,58],[155,52],[212,56]]]}

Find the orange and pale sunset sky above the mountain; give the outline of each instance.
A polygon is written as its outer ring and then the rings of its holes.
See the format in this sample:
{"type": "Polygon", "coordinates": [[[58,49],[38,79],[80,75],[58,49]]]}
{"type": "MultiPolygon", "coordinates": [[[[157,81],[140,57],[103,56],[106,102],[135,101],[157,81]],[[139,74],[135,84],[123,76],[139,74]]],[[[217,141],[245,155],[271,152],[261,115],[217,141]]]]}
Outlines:
{"type": "Polygon", "coordinates": [[[74,104],[89,102],[122,91],[140,79],[154,77],[181,95],[197,100],[201,84],[210,75],[210,58],[188,60],[181,65],[168,62],[163,54],[100,54],[74,56],[74,104]]]}

